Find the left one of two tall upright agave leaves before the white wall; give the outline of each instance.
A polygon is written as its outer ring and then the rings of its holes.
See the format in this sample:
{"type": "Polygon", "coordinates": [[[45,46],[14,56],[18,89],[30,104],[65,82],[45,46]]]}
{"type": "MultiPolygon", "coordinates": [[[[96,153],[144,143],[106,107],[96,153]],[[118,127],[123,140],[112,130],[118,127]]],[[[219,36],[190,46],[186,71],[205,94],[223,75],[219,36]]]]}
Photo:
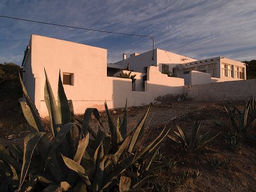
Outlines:
{"type": "Polygon", "coordinates": [[[51,84],[49,83],[49,79],[47,77],[45,70],[44,72],[45,72],[44,100],[45,100],[47,109],[49,111],[52,135],[55,137],[61,128],[61,118],[60,118],[60,113],[59,113],[56,101],[54,99],[54,95],[52,93],[51,84]]]}

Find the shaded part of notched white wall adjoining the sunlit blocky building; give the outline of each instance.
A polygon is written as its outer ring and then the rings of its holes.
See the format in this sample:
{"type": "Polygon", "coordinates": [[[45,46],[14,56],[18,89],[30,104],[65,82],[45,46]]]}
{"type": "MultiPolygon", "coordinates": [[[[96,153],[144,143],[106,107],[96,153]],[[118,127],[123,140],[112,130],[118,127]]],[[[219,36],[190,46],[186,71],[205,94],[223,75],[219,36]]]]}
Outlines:
{"type": "Polygon", "coordinates": [[[177,102],[184,99],[184,86],[164,86],[145,82],[147,91],[133,92],[131,81],[113,80],[113,108],[124,108],[127,99],[128,106],[143,106],[154,102],[177,102]]]}

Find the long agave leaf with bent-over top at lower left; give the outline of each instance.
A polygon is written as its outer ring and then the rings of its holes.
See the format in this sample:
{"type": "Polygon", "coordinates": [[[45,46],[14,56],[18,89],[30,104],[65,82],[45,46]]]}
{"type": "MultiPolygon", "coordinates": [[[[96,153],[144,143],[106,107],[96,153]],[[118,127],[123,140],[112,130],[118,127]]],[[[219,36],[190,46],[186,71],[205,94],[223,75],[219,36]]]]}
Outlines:
{"type": "Polygon", "coordinates": [[[45,134],[44,132],[33,132],[33,133],[29,133],[28,136],[24,138],[24,156],[23,156],[22,169],[20,173],[19,189],[21,188],[26,178],[26,175],[28,173],[29,164],[30,164],[33,152],[36,148],[36,145],[44,134],[45,134]]]}

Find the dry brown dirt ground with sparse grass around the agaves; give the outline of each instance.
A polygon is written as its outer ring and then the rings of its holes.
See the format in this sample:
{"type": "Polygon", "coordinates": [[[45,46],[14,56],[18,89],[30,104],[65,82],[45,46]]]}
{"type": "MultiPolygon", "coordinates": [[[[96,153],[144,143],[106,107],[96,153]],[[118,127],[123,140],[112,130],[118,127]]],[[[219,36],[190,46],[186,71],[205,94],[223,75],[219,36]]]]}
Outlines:
{"type": "MultiPolygon", "coordinates": [[[[244,102],[225,102],[228,106],[241,109],[244,102]]],[[[227,115],[223,108],[224,102],[174,102],[172,104],[152,105],[150,116],[143,134],[141,145],[147,145],[164,126],[177,129],[176,124],[185,132],[191,131],[195,120],[202,122],[200,134],[211,129],[211,135],[220,134],[207,147],[209,152],[204,154],[182,154],[173,149],[172,141],[163,141],[161,151],[165,156],[177,161],[177,166],[172,170],[157,172],[157,182],[163,186],[163,191],[256,191],[256,149],[255,144],[244,143],[236,152],[232,152],[225,143],[223,128],[214,124],[225,122],[228,124],[227,115]],[[211,167],[213,159],[228,160],[225,168],[214,170],[211,167]],[[195,171],[200,176],[195,178],[195,171]],[[187,173],[187,179],[183,178],[187,173]],[[179,180],[180,179],[180,180],[179,180]]],[[[128,112],[129,129],[132,129],[141,116],[145,114],[148,106],[132,107],[128,112]]],[[[123,109],[111,110],[113,118],[122,116],[123,109]]],[[[106,114],[100,113],[104,125],[108,124],[106,114]]],[[[82,119],[83,115],[76,118],[82,119]]],[[[45,126],[49,129],[49,121],[44,119],[45,126]]],[[[92,120],[93,124],[93,120],[92,120]]],[[[17,100],[2,100],[0,102],[0,143],[4,146],[19,143],[28,134],[26,120],[22,115],[17,100]],[[12,135],[13,136],[10,136],[12,135]]],[[[106,128],[107,129],[107,128],[106,128]]],[[[255,132],[254,132],[255,134],[255,132]]],[[[154,189],[153,189],[154,191],[154,189]]]]}

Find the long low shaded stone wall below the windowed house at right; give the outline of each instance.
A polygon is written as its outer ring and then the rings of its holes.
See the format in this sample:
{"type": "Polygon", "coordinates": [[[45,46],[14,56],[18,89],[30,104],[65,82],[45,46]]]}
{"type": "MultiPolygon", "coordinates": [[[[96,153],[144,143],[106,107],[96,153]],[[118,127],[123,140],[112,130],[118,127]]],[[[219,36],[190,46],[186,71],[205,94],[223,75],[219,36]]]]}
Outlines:
{"type": "Polygon", "coordinates": [[[246,100],[256,97],[256,79],[188,85],[185,94],[192,100],[246,100]]]}

